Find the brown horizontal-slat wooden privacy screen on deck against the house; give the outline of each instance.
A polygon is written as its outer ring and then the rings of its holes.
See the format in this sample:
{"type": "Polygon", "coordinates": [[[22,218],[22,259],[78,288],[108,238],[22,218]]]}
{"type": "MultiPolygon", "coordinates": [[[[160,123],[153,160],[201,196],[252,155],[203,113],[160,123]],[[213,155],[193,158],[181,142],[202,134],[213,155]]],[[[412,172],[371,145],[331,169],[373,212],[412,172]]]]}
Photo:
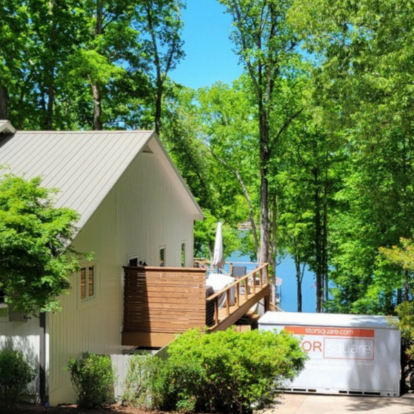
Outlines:
{"type": "Polygon", "coordinates": [[[124,267],[124,275],[123,345],[162,346],[155,337],[206,325],[205,270],[124,267]]]}

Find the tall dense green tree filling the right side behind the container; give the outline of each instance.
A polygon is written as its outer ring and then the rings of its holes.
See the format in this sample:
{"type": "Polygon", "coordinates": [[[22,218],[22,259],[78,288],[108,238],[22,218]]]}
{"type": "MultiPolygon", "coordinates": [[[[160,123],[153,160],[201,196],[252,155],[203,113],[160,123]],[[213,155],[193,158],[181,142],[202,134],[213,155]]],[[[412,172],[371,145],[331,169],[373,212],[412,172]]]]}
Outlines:
{"type": "Polygon", "coordinates": [[[290,10],[316,62],[315,102],[346,155],[331,220],[335,311],[387,312],[400,300],[393,291],[403,279],[378,249],[410,237],[413,228],[411,6],[295,0],[290,10]]]}

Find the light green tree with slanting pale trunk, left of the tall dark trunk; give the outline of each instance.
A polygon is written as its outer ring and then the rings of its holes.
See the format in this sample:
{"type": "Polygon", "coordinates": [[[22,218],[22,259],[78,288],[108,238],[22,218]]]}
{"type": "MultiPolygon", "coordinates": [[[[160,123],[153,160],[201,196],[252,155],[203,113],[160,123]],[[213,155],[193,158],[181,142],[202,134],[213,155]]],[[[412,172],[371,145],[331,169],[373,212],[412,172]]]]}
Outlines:
{"type": "MultiPolygon", "coordinates": [[[[218,82],[197,93],[201,139],[208,149],[215,170],[215,188],[226,206],[222,218],[233,225],[250,224],[253,248],[248,253],[259,257],[256,196],[257,180],[256,124],[254,108],[248,99],[246,77],[228,86],[218,82]],[[253,250],[253,251],[252,251],[253,250]]],[[[247,242],[249,239],[244,239],[247,242]]]]}

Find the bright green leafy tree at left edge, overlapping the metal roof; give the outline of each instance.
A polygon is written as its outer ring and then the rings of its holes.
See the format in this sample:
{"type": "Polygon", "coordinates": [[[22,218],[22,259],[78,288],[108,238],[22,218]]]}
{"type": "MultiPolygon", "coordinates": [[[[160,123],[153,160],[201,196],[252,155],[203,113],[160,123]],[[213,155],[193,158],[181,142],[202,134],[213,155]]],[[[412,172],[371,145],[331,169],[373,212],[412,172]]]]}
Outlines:
{"type": "Polygon", "coordinates": [[[55,208],[39,177],[0,177],[0,286],[15,311],[57,311],[78,262],[68,245],[79,215],[55,208]]]}

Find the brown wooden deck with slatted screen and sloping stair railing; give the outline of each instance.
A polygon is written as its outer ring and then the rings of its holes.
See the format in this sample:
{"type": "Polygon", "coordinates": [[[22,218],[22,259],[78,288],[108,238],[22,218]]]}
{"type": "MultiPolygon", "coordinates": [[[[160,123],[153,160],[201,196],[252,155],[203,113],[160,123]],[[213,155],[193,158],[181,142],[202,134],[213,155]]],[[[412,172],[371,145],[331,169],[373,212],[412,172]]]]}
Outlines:
{"type": "Polygon", "coordinates": [[[208,314],[208,332],[214,332],[235,324],[262,299],[265,309],[269,308],[268,264],[208,299],[205,284],[203,268],[125,267],[122,345],[165,346],[177,333],[204,328],[208,314]],[[219,309],[221,295],[225,295],[226,305],[219,309]],[[209,310],[213,310],[213,319],[209,310]]]}

